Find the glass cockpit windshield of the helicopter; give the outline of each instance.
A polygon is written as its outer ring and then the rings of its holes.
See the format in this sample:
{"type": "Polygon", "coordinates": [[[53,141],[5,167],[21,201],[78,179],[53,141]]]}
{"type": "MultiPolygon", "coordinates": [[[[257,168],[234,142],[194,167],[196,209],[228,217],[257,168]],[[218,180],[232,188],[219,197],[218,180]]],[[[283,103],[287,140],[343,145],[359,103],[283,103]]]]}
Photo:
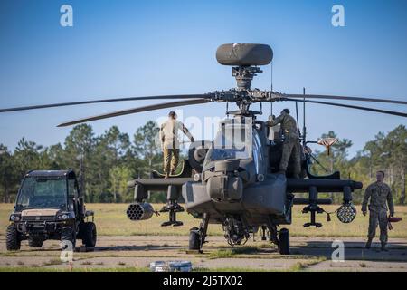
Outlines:
{"type": "Polygon", "coordinates": [[[251,158],[251,125],[232,123],[222,124],[213,147],[209,152],[210,161],[251,158]]]}

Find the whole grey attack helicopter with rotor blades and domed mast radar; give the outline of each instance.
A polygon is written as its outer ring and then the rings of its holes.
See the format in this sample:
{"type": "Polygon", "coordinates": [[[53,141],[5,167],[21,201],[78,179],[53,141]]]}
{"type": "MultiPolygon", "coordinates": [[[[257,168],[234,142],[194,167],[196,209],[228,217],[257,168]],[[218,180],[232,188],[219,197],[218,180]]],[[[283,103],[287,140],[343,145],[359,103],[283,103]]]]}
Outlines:
{"type": "MultiPolygon", "coordinates": [[[[101,102],[127,102],[137,100],[177,100],[161,102],[143,107],[114,111],[74,121],[62,122],[58,127],[71,126],[88,121],[118,117],[143,111],[173,108],[177,106],[198,105],[209,102],[226,103],[228,118],[219,124],[214,140],[196,140],[191,142],[187,159],[181,172],[165,179],[162,174],[152,171],[148,179],[128,181],[128,187],[134,188],[134,201],[128,206],[128,218],[134,221],[151,218],[155,209],[146,199],[148,192],[166,191],[167,203],[160,210],[167,212],[168,221],[162,226],[182,226],[176,219],[178,212],[186,211],[194,218],[201,219],[198,227],[190,229],[189,249],[202,251],[206,243],[207,229],[210,224],[221,224],[224,237],[231,246],[244,244],[251,235],[260,231],[262,240],[270,240],[279,248],[279,253],[289,255],[289,230],[284,225],[292,223],[293,205],[304,205],[302,212],[310,215],[304,227],[322,227],[317,222],[317,214],[327,213],[320,206],[332,203],[330,198],[319,198],[319,193],[342,193],[343,203],[336,209],[337,218],[343,223],[355,219],[356,209],[352,203],[352,193],[362,189],[361,182],[341,179],[336,171],[326,176],[314,175],[310,166],[315,160],[309,143],[318,143],[329,150],[336,140],[310,141],[306,139],[305,104],[317,103],[362,111],[407,117],[400,111],[386,111],[345,103],[326,102],[358,101],[383,102],[406,105],[407,102],[389,99],[348,97],[317,94],[288,94],[251,88],[251,82],[260,66],[268,65],[273,59],[273,51],[267,44],[227,43],[216,51],[216,59],[222,65],[232,67],[232,76],[236,87],[215,92],[183,95],[160,95],[128,97],[117,99],[63,102],[15,108],[0,109],[0,112],[25,111],[71,105],[84,105],[101,102]],[[293,161],[289,160],[286,174],[279,173],[279,160],[282,155],[284,134],[279,128],[267,126],[257,116],[262,111],[252,111],[254,103],[303,102],[304,127],[300,132],[301,176],[294,178],[293,161]],[[228,104],[234,103],[236,111],[228,111],[228,104]],[[229,116],[232,115],[232,118],[229,116]],[[305,193],[308,198],[296,198],[296,194],[305,193]],[[179,203],[184,199],[185,208],[179,203]],[[281,228],[282,227],[282,228],[281,228]]],[[[298,123],[298,117],[297,117],[298,123]]],[[[299,128],[298,128],[299,131],[299,128]]],[[[317,160],[316,160],[317,161],[317,160]]]]}

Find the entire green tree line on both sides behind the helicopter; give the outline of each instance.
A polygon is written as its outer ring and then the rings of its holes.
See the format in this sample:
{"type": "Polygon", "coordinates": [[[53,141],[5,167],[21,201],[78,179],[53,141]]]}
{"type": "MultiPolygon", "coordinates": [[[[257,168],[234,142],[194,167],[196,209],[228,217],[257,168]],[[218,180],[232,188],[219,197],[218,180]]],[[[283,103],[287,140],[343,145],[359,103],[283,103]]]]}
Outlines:
{"type": "MultiPolygon", "coordinates": [[[[80,188],[87,202],[129,202],[133,193],[127,187],[130,179],[146,178],[153,169],[162,170],[162,152],[156,122],[147,121],[134,133],[117,126],[100,135],[95,135],[88,124],[75,126],[63,143],[43,147],[33,141],[19,140],[12,151],[0,143],[0,200],[13,202],[21,179],[31,169],[74,169],[80,180],[80,188]]],[[[334,131],[321,138],[336,138],[334,131]]],[[[386,182],[393,189],[394,202],[405,201],[405,177],[407,167],[407,130],[400,125],[388,133],[379,132],[374,140],[366,142],[364,149],[349,158],[347,150],[352,141],[341,139],[331,148],[317,150],[313,154],[318,162],[312,165],[313,172],[329,174],[341,171],[343,179],[351,178],[366,187],[374,181],[375,171],[386,172],[386,182]]],[[[340,195],[331,195],[340,202],[340,195]]],[[[355,192],[355,202],[360,202],[363,190],[355,192]]],[[[165,201],[166,194],[151,195],[150,200],[165,201]]]]}

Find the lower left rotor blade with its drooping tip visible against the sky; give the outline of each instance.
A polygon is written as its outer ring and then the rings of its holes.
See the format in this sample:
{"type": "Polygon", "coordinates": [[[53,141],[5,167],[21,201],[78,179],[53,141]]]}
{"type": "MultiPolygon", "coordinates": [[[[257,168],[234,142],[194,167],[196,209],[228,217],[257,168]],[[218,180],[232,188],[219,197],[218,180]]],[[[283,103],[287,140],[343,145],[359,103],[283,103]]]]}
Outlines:
{"type": "Polygon", "coordinates": [[[82,119],[78,119],[78,120],[74,120],[74,121],[67,121],[67,122],[59,124],[57,127],[66,127],[66,126],[71,126],[74,124],[83,123],[86,121],[96,121],[96,120],[100,120],[100,119],[107,119],[107,118],[112,118],[112,117],[128,115],[128,114],[134,114],[134,113],[142,112],[142,111],[154,111],[154,110],[166,109],[166,108],[171,108],[171,107],[195,105],[195,104],[200,104],[200,103],[205,103],[205,102],[211,102],[211,101],[206,100],[206,99],[193,99],[193,100],[178,101],[178,102],[163,102],[163,103],[158,103],[158,104],[154,104],[154,105],[148,105],[148,106],[138,107],[138,108],[133,108],[133,109],[113,111],[113,112],[109,112],[106,114],[82,118],[82,119]]]}

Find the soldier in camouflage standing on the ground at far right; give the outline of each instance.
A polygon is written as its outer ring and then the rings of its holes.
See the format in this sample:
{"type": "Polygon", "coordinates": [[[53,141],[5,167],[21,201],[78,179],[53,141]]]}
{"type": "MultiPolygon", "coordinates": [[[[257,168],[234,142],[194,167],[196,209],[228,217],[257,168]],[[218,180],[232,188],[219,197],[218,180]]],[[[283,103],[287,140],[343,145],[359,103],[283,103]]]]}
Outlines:
{"type": "Polygon", "coordinates": [[[366,248],[372,246],[372,240],[376,234],[376,227],[380,227],[380,242],[382,251],[387,251],[387,204],[389,205],[390,216],[394,215],[393,196],[390,187],[383,182],[384,172],[376,172],[376,182],[369,185],[364,192],[364,201],[362,203],[362,213],[367,213],[367,201],[369,204],[369,231],[367,234],[366,248]]]}

